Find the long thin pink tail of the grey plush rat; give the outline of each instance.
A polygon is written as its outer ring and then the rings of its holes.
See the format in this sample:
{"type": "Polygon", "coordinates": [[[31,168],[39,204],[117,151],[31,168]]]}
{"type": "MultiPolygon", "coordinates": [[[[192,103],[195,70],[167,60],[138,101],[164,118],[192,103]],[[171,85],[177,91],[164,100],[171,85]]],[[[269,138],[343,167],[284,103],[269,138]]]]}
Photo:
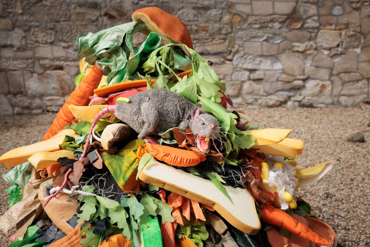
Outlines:
{"type": "MultiPolygon", "coordinates": [[[[115,112],[115,105],[112,105],[112,106],[108,106],[108,107],[103,108],[101,111],[98,112],[98,114],[96,114],[96,116],[94,117],[94,120],[92,120],[90,132],[87,135],[87,140],[86,140],[86,143],[85,143],[84,151],[83,151],[83,153],[82,153],[82,155],[80,157],[80,160],[83,159],[86,156],[87,149],[88,149],[88,147],[90,145],[90,137],[91,137],[91,134],[92,134],[92,130],[96,126],[96,123],[99,121],[99,119],[102,116],[104,116],[105,114],[110,113],[110,112],[113,112],[113,113],[115,112]]],[[[72,170],[73,170],[72,168],[69,168],[68,169],[68,171],[65,173],[63,184],[60,186],[60,188],[57,191],[55,191],[54,194],[50,195],[47,198],[47,200],[46,200],[43,208],[46,206],[46,204],[48,204],[48,202],[51,200],[51,198],[55,197],[57,194],[59,194],[60,191],[62,191],[62,189],[64,188],[65,184],[67,184],[68,176],[72,172],[72,170]]]]}

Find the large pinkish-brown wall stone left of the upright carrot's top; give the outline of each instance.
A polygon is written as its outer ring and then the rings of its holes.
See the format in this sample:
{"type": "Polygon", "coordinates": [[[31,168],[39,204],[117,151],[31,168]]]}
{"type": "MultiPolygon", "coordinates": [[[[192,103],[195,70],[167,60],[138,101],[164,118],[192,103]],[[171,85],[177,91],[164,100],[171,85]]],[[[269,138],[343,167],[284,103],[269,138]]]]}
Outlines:
{"type": "Polygon", "coordinates": [[[26,82],[29,94],[65,95],[73,90],[71,76],[63,70],[48,70],[43,74],[33,74],[26,82]]]}

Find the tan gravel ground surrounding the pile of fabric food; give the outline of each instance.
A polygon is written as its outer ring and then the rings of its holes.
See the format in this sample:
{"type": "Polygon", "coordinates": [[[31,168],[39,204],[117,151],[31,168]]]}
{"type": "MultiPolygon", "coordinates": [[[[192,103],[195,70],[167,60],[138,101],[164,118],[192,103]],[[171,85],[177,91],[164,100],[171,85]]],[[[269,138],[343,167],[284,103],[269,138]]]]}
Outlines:
{"type": "MultiPolygon", "coordinates": [[[[313,213],[328,223],[337,234],[341,246],[370,246],[370,183],[366,183],[370,160],[370,106],[356,108],[298,108],[245,109],[251,124],[261,128],[289,128],[290,138],[305,141],[300,168],[315,166],[324,161],[340,159],[313,186],[300,189],[313,213]],[[365,143],[346,141],[349,134],[361,131],[365,143]],[[358,193],[360,191],[360,193],[358,193]]],[[[0,154],[13,148],[40,140],[55,114],[18,115],[0,119],[0,154]]],[[[7,168],[0,167],[0,173],[7,168]]],[[[9,184],[0,180],[0,191],[9,184]]],[[[0,197],[0,212],[6,211],[9,196],[0,197]]],[[[3,234],[3,233],[1,233],[3,234]]],[[[0,246],[7,246],[11,234],[0,237],[0,246]]]]}

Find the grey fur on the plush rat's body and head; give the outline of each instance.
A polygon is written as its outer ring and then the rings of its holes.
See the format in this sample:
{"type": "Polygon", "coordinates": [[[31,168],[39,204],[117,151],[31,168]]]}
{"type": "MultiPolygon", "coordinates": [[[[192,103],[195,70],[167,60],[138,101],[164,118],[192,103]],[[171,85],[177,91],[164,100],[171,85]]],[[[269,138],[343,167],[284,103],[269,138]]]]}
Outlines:
{"type": "Polygon", "coordinates": [[[193,120],[198,106],[167,89],[141,91],[129,97],[129,100],[129,103],[116,103],[115,116],[139,133],[140,139],[151,134],[157,135],[160,131],[173,127],[184,130],[189,128],[196,134],[212,138],[215,130],[211,130],[209,126],[211,124],[220,126],[215,117],[203,110],[199,117],[193,120]],[[207,124],[202,126],[203,121],[207,124]]]}

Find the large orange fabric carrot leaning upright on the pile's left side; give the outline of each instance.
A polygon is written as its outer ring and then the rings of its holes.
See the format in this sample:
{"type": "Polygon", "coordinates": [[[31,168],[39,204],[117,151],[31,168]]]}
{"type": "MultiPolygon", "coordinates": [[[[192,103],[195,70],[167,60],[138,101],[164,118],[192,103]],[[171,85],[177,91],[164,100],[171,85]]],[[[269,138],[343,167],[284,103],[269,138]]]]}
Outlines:
{"type": "Polygon", "coordinates": [[[82,80],[82,82],[74,89],[71,95],[63,104],[59,110],[57,117],[55,117],[53,124],[46,131],[44,140],[54,136],[60,130],[63,130],[65,126],[71,124],[74,120],[74,116],[69,109],[70,104],[76,106],[87,106],[90,102],[89,97],[94,95],[94,89],[99,86],[103,71],[94,65],[90,70],[90,73],[82,80]]]}

